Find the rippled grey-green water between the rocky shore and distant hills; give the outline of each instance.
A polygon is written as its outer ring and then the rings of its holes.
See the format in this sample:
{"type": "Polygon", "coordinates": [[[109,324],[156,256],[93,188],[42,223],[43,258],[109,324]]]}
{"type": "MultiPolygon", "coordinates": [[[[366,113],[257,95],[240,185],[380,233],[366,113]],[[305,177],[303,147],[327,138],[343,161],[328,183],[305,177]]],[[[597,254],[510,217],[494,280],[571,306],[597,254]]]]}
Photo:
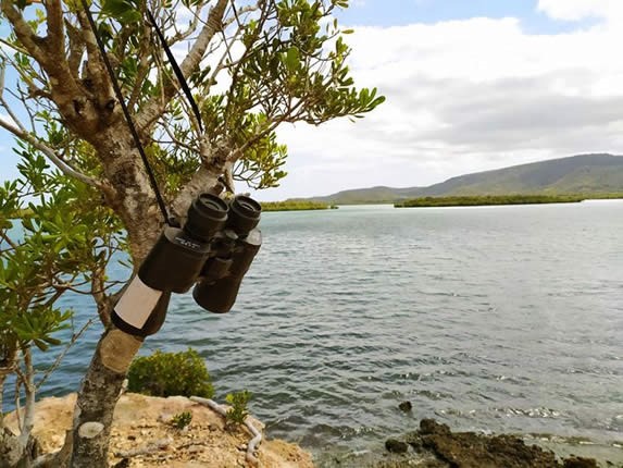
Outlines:
{"type": "MultiPolygon", "coordinates": [[[[271,436],[316,454],[378,446],[424,417],[622,441],[622,211],[587,201],[265,213],[234,311],[177,296],[141,353],[197,348],[217,398],[251,391],[271,436]],[[397,409],[407,399],[411,415],[397,409]]],[[[77,389],[100,331],[47,394],[77,389]]]]}

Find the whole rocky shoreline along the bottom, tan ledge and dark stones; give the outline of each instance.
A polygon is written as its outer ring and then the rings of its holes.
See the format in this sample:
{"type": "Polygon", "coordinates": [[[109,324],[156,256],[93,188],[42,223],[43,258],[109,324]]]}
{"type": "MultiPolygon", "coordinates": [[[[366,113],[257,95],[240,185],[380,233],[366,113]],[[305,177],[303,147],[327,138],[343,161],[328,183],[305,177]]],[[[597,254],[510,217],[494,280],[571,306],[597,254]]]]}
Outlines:
{"type": "MultiPolygon", "coordinates": [[[[62,446],[65,430],[72,424],[75,399],[76,394],[71,393],[37,403],[34,435],[45,452],[62,446]]],[[[5,418],[13,430],[14,416],[5,418]]],[[[263,432],[262,422],[252,417],[251,422],[263,432]]],[[[350,452],[264,439],[256,455],[264,468],[406,468],[414,464],[421,468],[623,468],[623,441],[621,445],[616,441],[607,445],[553,434],[453,432],[432,419],[423,419],[418,430],[386,436],[369,449],[350,452]]],[[[225,428],[217,412],[189,398],[125,393],[114,412],[109,460],[111,466],[125,463],[127,467],[157,467],[163,463],[177,468],[250,467],[253,465],[246,460],[245,453],[251,439],[246,428],[225,428]],[[192,414],[184,430],[170,423],[180,411],[192,414]]]]}

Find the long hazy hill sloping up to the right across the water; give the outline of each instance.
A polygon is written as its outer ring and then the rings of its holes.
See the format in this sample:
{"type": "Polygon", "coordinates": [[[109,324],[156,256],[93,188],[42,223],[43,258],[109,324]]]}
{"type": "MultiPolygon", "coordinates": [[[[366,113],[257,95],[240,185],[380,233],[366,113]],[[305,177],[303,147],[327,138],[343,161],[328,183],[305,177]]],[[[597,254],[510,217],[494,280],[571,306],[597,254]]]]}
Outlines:
{"type": "Polygon", "coordinates": [[[623,193],[623,157],[578,155],[448,178],[428,187],[356,188],[312,197],[336,205],[394,202],[408,198],[453,195],[623,193]]]}

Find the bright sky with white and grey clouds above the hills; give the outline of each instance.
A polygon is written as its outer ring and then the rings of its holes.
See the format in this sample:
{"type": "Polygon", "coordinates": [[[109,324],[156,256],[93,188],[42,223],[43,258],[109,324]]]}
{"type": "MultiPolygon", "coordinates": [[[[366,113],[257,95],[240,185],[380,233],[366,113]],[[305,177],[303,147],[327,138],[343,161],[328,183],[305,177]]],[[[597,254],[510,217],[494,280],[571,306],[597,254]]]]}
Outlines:
{"type": "MultiPolygon", "coordinates": [[[[281,127],[288,175],[260,200],[623,153],[623,0],[351,0],[338,19],[356,84],[387,100],[281,127]]],[[[10,145],[0,130],[0,178],[10,145]]]]}

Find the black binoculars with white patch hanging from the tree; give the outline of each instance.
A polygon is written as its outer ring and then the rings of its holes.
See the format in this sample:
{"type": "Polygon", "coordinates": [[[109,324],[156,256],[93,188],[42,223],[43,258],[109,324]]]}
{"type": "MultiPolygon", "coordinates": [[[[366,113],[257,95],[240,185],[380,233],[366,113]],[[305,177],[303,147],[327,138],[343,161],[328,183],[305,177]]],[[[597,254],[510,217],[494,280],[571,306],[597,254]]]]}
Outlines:
{"type": "Polygon", "coordinates": [[[114,307],[120,330],[151,335],[162,327],[171,293],[186,293],[203,309],[228,312],[240,283],[262,245],[257,229],[261,206],[238,195],[229,204],[201,194],[183,227],[167,225],[114,307]]]}

